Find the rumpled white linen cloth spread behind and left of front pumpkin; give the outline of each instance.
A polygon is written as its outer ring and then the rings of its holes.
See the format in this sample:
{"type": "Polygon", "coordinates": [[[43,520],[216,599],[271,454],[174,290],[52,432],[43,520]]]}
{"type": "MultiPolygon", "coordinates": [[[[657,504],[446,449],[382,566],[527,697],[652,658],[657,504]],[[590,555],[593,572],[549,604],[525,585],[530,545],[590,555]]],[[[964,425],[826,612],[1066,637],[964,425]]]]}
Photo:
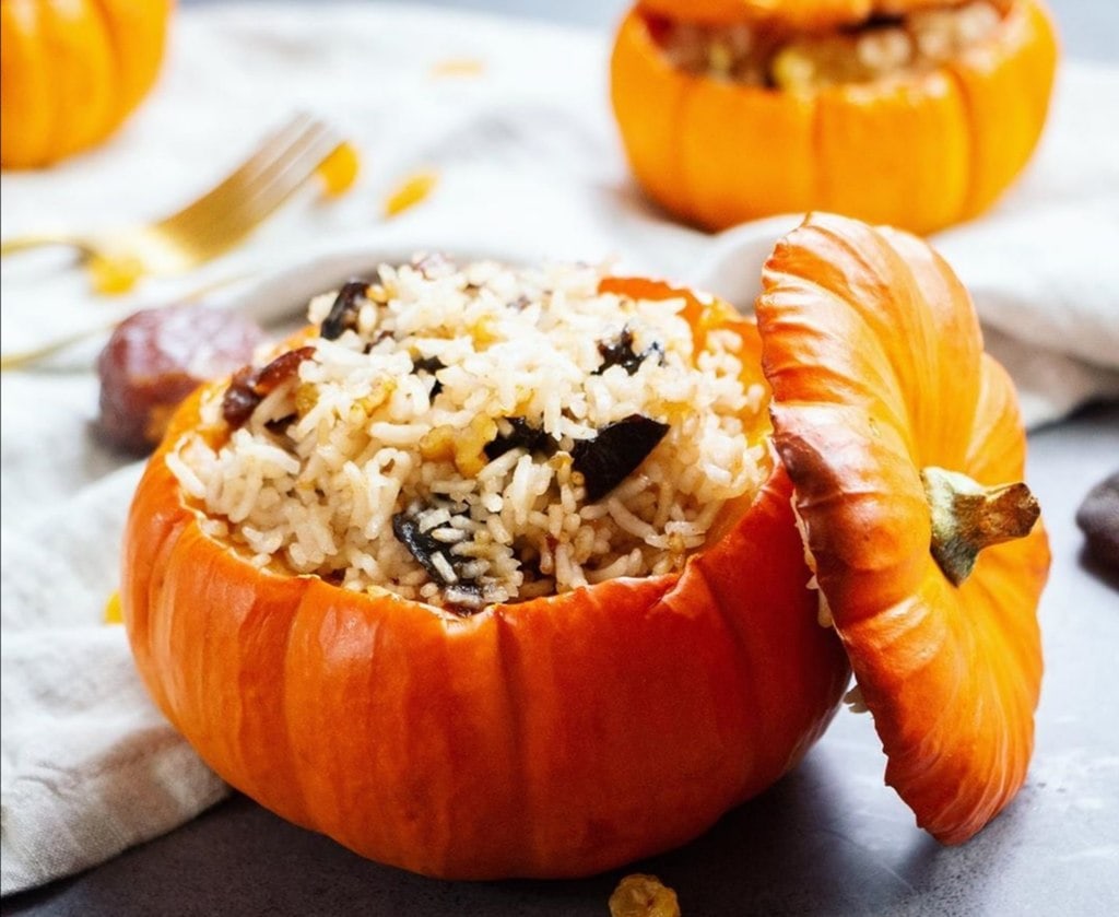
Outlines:
{"type": "MultiPolygon", "coordinates": [[[[628,177],[606,102],[609,36],[382,4],[255,2],[179,11],[160,86],[103,148],[0,178],[4,236],[160,215],[204,189],[294,107],[338,123],[365,169],[344,199],[308,196],[236,254],[116,302],[55,254],[3,265],[3,352],[96,327],[213,281],[229,308],[293,319],[307,297],[415,251],[513,260],[618,259],[742,307],[799,217],[718,236],[676,225],[628,177]],[[477,59],[476,76],[440,62],[477,59]],[[430,200],[386,222],[402,176],[436,169],[430,200]],[[111,219],[110,219],[111,217],[111,219]]],[[[1119,73],[1066,65],[1042,149],[989,215],[935,244],[975,293],[988,344],[1027,418],[1119,394],[1119,73]]],[[[2,892],[100,862],[219,798],[225,787],[162,720],[120,627],[122,521],[140,471],[106,450],[96,345],[0,386],[2,892]]]]}

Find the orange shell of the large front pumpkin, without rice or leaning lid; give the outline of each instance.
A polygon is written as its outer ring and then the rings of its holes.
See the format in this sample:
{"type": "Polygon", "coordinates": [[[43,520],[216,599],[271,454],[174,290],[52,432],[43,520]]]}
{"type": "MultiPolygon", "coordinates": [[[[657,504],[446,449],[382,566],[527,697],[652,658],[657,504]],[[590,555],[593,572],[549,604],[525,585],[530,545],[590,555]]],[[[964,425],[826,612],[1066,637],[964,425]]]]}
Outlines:
{"type": "MultiPolygon", "coordinates": [[[[696,336],[756,329],[685,291],[696,336]]],[[[382,862],[581,876],[697,835],[792,767],[849,677],[777,466],[679,573],[457,618],[263,572],[204,534],[163,456],[129,517],[122,603],[152,696],[227,782],[382,862]]],[[[768,430],[759,429],[756,437],[768,430]]]]}

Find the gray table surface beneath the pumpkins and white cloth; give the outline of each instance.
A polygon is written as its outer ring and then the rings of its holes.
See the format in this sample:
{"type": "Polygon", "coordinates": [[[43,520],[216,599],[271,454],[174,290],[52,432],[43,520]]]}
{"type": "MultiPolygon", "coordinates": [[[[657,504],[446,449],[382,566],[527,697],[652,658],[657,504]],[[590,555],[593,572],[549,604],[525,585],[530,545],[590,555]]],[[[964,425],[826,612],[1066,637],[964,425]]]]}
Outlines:
{"type": "MultiPolygon", "coordinates": [[[[185,0],[199,2],[203,0],[185,0]]],[[[213,1],[213,0],[210,0],[213,1]]],[[[602,26],[617,0],[444,0],[602,26]]],[[[1053,0],[1066,50],[1115,60],[1119,2],[1053,0]]],[[[1119,291],[1116,291],[1119,296],[1119,291]]],[[[882,783],[865,715],[840,711],[805,761],[693,843],[563,882],[441,882],[361,860],[234,796],[82,876],[6,898],[4,915],[603,915],[618,879],[658,874],[698,915],[1119,914],[1119,577],[1083,555],[1074,513],[1119,469],[1119,404],[1031,436],[1028,479],[1053,569],[1046,676],[1025,787],[981,834],[942,848],[882,783]]]]}

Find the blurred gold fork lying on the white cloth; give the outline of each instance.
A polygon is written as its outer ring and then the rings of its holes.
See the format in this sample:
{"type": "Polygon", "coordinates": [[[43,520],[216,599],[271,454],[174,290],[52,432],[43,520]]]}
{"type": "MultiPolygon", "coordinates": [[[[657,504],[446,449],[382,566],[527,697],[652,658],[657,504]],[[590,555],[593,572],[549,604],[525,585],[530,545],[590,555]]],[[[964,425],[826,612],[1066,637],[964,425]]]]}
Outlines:
{"type": "Polygon", "coordinates": [[[197,200],[158,222],[95,235],[30,233],[0,242],[0,255],[44,245],[77,249],[101,293],[129,290],[144,275],[180,273],[227,252],[316,171],[331,193],[352,181],[357,159],[332,129],[298,114],[197,200]]]}

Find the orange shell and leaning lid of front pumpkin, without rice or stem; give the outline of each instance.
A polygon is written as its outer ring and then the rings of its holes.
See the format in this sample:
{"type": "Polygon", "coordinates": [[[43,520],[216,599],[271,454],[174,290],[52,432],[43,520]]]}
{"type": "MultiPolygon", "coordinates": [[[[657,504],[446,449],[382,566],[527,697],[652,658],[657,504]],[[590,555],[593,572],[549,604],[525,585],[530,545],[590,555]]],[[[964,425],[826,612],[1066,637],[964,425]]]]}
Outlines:
{"type": "MultiPolygon", "coordinates": [[[[925,460],[984,480],[1021,475],[1013,390],[980,361],[966,293],[915,241],[820,219],[779,245],[767,283],[764,345],[752,321],[717,301],[656,281],[604,286],[685,297],[697,337],[734,324],[751,380],[762,380],[763,366],[775,378],[792,406],[774,402],[774,442],[801,488],[820,584],[867,701],[884,718],[887,751],[931,758],[931,773],[943,752],[959,765],[947,776],[965,788],[937,784],[937,792],[981,788],[995,801],[982,810],[989,817],[1028,759],[1044,534],[991,548],[956,595],[930,560],[930,540],[941,540],[931,537],[932,511],[913,484],[925,460]],[[833,232],[847,243],[822,244],[833,232]],[[858,299],[867,290],[882,321],[867,321],[873,310],[858,299]],[[859,335],[849,367],[831,358],[829,346],[840,341],[820,325],[831,311],[843,319],[837,328],[859,335]],[[894,312],[902,330],[885,320],[894,312]],[[844,446],[865,457],[859,474],[810,460],[797,446],[799,415],[788,411],[811,417],[814,401],[839,397],[835,387],[856,402],[859,422],[844,446]],[[880,436],[913,448],[883,451],[880,436]],[[864,528],[854,532],[858,522],[864,528]],[[1027,576],[1012,582],[1019,568],[1027,576]],[[899,591],[908,589],[913,601],[904,605],[899,591]],[[883,608],[887,598],[894,603],[883,608]],[[910,608],[911,640],[891,645],[883,621],[904,623],[910,608]],[[856,633],[861,625],[868,631],[856,633]],[[914,700],[896,682],[940,659],[948,662],[915,682],[927,696],[914,700]],[[958,732],[932,722],[946,693],[960,709],[946,727],[958,732]],[[972,707],[982,713],[968,724],[972,707]],[[930,724],[932,741],[913,748],[912,731],[930,724]],[[991,759],[993,749],[1003,757],[991,759]]],[[[122,603],[137,664],[219,775],[366,857],[449,878],[612,868],[683,843],[764,789],[838,703],[847,659],[817,620],[818,593],[806,588],[794,494],[779,461],[679,573],[452,619],[387,592],[261,571],[205,534],[164,461],[198,423],[198,405],[196,394],[176,415],[129,516],[122,603]]],[[[895,783],[910,798],[912,785],[895,783]]],[[[939,836],[978,830],[975,813],[961,823],[949,806],[942,817],[935,793],[919,787],[912,796],[939,836]]]]}

